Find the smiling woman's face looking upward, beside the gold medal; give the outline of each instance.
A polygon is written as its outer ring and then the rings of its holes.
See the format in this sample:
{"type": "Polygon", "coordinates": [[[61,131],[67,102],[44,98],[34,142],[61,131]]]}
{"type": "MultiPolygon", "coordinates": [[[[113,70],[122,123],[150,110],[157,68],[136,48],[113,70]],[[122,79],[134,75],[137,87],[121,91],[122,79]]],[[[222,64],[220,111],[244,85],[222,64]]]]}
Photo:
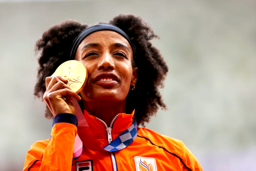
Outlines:
{"type": "Polygon", "coordinates": [[[132,67],[133,50],[114,31],[97,31],[84,38],[75,59],[88,71],[86,86],[80,92],[85,101],[122,101],[136,84],[138,68],[132,67]]]}

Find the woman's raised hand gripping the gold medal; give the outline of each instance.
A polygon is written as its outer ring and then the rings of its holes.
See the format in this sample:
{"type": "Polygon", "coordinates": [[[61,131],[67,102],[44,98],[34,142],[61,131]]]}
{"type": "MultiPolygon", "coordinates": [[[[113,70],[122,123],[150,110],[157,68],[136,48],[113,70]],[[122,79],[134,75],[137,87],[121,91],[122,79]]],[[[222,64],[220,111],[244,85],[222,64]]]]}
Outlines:
{"type": "Polygon", "coordinates": [[[81,100],[81,97],[66,84],[67,79],[60,76],[46,78],[46,92],[43,96],[45,103],[55,117],[61,113],[76,113],[75,106],[71,100],[81,100]]]}

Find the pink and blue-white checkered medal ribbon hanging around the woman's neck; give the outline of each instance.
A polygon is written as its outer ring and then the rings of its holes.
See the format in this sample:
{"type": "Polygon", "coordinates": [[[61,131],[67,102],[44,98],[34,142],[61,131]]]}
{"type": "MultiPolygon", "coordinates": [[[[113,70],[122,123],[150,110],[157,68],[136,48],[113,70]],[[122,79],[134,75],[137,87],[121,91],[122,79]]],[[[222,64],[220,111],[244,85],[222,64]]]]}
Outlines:
{"type": "Polygon", "coordinates": [[[136,119],[134,119],[134,122],[127,130],[119,135],[119,137],[114,139],[109,145],[102,148],[96,141],[86,121],[86,118],[84,118],[77,100],[72,97],[72,101],[75,105],[76,117],[78,119],[77,134],[73,149],[73,160],[76,160],[82,154],[82,145],[86,146],[92,151],[115,152],[131,144],[137,137],[137,122],[136,119]],[[79,135],[81,137],[79,137],[79,135]]]}

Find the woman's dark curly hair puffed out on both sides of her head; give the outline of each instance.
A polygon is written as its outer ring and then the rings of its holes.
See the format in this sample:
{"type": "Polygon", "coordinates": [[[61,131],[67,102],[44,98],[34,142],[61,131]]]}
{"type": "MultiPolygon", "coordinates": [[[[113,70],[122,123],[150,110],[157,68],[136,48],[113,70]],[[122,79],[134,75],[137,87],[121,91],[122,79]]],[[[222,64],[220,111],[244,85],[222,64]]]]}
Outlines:
{"type": "MultiPolygon", "coordinates": [[[[140,17],[132,14],[120,14],[110,20],[109,24],[123,30],[133,41],[137,55],[133,67],[138,67],[136,89],[130,91],[126,98],[126,113],[134,109],[138,125],[144,126],[160,108],[166,109],[159,92],[168,67],[159,50],[152,46],[150,40],[158,38],[152,28],[140,17]]],[[[34,95],[42,99],[46,91],[46,77],[51,76],[61,63],[69,60],[72,42],[88,25],[82,25],[73,20],[67,20],[47,30],[37,40],[35,52],[40,52],[39,68],[34,95]]],[[[53,117],[46,109],[45,117],[53,117]]]]}

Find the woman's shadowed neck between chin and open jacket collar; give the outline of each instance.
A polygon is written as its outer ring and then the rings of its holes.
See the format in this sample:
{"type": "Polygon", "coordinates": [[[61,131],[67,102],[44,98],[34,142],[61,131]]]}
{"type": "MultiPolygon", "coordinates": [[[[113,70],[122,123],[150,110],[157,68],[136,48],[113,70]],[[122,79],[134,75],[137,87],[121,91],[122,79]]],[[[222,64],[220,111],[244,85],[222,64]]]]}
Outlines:
{"type": "Polygon", "coordinates": [[[125,113],[125,100],[124,101],[100,101],[90,102],[83,100],[83,109],[91,115],[96,116],[103,120],[110,126],[114,117],[119,113],[125,113]]]}

